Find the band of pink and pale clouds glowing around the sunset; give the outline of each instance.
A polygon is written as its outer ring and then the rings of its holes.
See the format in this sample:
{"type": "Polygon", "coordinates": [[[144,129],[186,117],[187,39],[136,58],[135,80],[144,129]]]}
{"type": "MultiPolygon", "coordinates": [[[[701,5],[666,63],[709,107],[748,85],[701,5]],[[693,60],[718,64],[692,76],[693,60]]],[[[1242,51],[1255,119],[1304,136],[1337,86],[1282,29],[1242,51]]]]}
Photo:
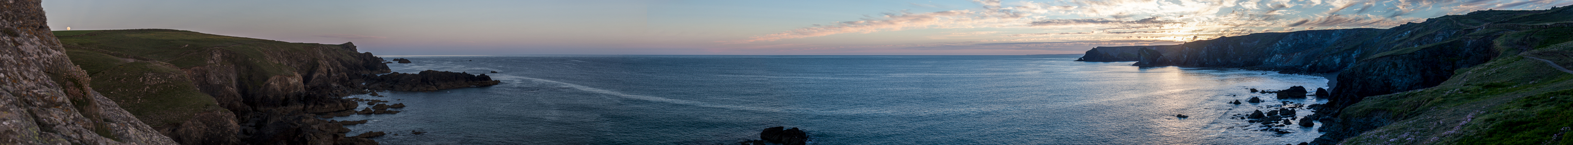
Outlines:
{"type": "MultiPolygon", "coordinates": [[[[974,8],[897,12],[761,34],[728,44],[922,28],[1029,28],[994,41],[1194,41],[1271,30],[1387,28],[1480,9],[1546,9],[1559,0],[969,0],[974,8]],[[1145,17],[1145,19],[1139,19],[1145,17]],[[1123,31],[1111,31],[1123,30],[1123,31]]],[[[931,6],[941,8],[941,6],[931,6]]],[[[955,36],[955,34],[950,34],[955,36]]]]}

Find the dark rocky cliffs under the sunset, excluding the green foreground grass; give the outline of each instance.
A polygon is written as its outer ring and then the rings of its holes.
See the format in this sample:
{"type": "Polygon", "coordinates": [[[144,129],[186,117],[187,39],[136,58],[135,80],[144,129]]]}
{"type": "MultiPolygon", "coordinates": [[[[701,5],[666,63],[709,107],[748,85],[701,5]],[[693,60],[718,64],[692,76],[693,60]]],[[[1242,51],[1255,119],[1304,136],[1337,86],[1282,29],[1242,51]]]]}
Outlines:
{"type": "MultiPolygon", "coordinates": [[[[1335,76],[1317,115],[1335,143],[1409,117],[1346,112],[1367,97],[1417,90],[1455,80],[1460,70],[1567,42],[1573,9],[1475,11],[1389,30],[1258,33],[1181,44],[1134,65],[1240,67],[1335,76]],[[1353,117],[1343,117],[1353,115],[1353,117]]],[[[1537,81],[1545,83],[1545,81],[1537,81]]],[[[1424,104],[1424,103],[1422,103],[1424,104]]],[[[1356,108],[1369,111],[1370,108],[1356,108]]]]}

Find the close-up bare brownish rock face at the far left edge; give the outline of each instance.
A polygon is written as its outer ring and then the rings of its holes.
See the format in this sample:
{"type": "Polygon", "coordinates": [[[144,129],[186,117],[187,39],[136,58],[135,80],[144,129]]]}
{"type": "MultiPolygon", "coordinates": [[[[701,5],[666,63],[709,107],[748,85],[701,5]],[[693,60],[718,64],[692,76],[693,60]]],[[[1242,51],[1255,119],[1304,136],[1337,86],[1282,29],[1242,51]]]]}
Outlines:
{"type": "Polygon", "coordinates": [[[39,0],[0,3],[0,143],[175,143],[94,90],[44,22],[39,0]]]}

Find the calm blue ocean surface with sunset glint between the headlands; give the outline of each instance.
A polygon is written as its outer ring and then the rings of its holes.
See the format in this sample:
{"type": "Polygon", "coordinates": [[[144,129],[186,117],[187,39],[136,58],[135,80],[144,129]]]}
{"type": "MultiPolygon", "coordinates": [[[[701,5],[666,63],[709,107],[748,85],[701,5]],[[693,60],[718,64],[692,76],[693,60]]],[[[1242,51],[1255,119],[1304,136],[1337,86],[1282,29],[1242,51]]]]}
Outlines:
{"type": "Polygon", "coordinates": [[[812,145],[1284,145],[1321,136],[1230,118],[1279,101],[1321,103],[1247,90],[1326,87],[1321,76],[1079,56],[382,56],[414,61],[389,64],[393,72],[484,73],[502,84],[354,95],[409,108],[330,120],[370,120],[348,134],[387,131],[374,137],[384,145],[736,145],[771,126],[801,128],[812,145]],[[1268,103],[1227,103],[1249,97],[1268,103]]]}

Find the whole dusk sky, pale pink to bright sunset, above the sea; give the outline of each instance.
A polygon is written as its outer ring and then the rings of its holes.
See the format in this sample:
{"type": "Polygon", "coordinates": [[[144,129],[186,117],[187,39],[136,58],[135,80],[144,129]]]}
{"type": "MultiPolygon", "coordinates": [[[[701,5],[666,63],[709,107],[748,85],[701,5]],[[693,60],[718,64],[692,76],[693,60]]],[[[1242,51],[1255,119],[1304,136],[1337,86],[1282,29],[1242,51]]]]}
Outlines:
{"type": "Polygon", "coordinates": [[[53,30],[168,28],[376,55],[1068,55],[1391,28],[1573,0],[46,0],[53,30]]]}

